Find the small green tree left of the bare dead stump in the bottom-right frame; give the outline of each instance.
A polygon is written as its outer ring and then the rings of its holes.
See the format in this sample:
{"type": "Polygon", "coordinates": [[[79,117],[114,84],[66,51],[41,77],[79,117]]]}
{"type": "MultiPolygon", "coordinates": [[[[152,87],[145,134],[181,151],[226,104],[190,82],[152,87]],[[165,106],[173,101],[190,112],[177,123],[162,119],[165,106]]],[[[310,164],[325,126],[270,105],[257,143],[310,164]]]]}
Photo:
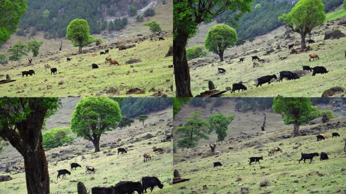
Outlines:
{"type": "Polygon", "coordinates": [[[227,137],[227,126],[233,121],[234,115],[212,114],[209,117],[209,133],[215,131],[218,134],[218,141],[223,141],[227,137]]]}

